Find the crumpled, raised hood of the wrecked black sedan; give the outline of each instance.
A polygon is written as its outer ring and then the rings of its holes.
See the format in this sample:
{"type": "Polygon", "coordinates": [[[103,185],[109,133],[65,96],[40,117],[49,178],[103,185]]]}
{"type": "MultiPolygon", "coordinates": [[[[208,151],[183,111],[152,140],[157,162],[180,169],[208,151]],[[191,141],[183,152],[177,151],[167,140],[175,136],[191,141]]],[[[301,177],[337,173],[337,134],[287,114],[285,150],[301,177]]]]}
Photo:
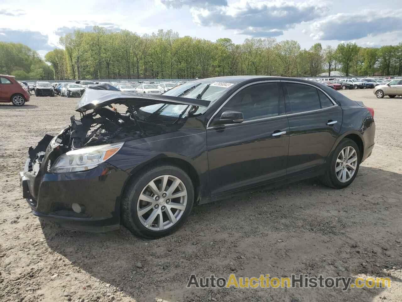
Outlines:
{"type": "Polygon", "coordinates": [[[105,107],[112,103],[126,103],[137,108],[158,103],[208,107],[210,101],[168,95],[124,92],[110,84],[102,84],[88,87],[85,90],[85,93],[78,101],[76,111],[86,112],[87,110],[105,107]]]}

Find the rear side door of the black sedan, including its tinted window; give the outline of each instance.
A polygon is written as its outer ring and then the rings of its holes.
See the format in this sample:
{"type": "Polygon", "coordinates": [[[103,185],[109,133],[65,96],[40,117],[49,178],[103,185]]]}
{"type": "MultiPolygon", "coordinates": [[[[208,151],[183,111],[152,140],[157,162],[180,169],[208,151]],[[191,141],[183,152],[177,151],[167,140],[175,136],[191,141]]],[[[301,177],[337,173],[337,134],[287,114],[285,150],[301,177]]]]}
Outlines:
{"type": "Polygon", "coordinates": [[[282,81],[289,121],[287,175],[316,170],[324,163],[342,125],[339,105],[314,85],[282,81]]]}

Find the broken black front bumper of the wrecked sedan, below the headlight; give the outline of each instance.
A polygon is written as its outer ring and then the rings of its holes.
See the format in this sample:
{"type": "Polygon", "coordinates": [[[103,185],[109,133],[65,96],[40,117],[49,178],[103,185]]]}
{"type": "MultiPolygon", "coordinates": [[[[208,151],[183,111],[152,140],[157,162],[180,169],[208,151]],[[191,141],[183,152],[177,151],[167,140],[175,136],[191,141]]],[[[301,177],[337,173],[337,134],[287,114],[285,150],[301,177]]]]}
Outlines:
{"type": "MultiPolygon", "coordinates": [[[[42,165],[47,165],[47,157],[45,155],[42,165]]],[[[42,169],[35,175],[30,171],[31,159],[27,159],[19,174],[23,198],[33,215],[69,230],[107,232],[119,229],[120,200],[129,176],[127,172],[109,163],[84,172],[62,174],[43,173],[46,169],[42,169]],[[80,206],[80,212],[73,210],[74,203],[80,206]]]]}

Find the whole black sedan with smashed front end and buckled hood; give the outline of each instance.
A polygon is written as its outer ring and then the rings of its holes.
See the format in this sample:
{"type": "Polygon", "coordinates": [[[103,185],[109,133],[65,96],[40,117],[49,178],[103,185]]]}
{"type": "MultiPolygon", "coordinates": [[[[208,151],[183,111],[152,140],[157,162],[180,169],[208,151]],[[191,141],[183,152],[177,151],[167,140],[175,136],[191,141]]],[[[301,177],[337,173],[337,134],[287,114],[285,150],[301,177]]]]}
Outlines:
{"type": "Polygon", "coordinates": [[[103,84],[76,111],[20,173],[33,214],[73,230],[158,238],[193,205],[255,186],[320,176],[345,188],[374,146],[372,108],[301,79],[218,77],[163,95],[103,84]]]}

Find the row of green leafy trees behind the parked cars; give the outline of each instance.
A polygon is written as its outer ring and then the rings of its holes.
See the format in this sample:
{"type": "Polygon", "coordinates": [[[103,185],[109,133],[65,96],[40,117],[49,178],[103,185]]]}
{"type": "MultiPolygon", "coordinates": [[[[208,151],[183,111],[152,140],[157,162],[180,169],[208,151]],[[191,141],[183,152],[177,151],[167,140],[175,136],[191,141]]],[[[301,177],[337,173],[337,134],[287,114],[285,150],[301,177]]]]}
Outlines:
{"type": "Polygon", "coordinates": [[[193,79],[224,75],[315,77],[339,70],[347,75],[402,75],[402,43],[363,48],[340,43],[301,49],[294,40],[249,38],[242,44],[180,37],[172,30],[137,35],[94,26],[60,38],[64,49],[45,55],[22,44],[0,42],[0,72],[18,79],[193,79]],[[8,51],[6,49],[9,49],[8,51]],[[5,51],[6,50],[6,51],[5,51]],[[42,72],[38,69],[42,68],[42,72]]]}

